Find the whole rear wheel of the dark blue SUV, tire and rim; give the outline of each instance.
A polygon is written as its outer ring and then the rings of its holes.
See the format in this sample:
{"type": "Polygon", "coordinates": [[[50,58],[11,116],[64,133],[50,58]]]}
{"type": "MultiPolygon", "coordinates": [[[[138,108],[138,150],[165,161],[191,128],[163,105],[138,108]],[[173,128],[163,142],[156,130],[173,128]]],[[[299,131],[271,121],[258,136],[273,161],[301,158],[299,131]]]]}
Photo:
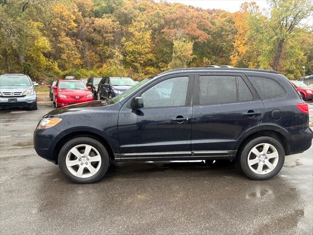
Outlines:
{"type": "Polygon", "coordinates": [[[267,136],[249,141],[239,161],[242,170],[253,180],[266,180],[275,176],[284,162],[285,151],[282,144],[267,136]]]}

